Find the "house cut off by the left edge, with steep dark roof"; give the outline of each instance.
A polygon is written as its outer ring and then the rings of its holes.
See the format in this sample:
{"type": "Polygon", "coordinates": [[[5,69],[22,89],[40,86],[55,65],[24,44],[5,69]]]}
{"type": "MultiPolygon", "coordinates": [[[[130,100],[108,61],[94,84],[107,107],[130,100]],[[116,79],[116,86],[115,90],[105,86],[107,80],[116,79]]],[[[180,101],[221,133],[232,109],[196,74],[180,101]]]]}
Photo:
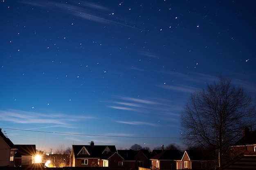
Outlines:
{"type": "Polygon", "coordinates": [[[0,167],[14,167],[16,150],[17,148],[15,148],[12,141],[2,133],[2,128],[0,128],[0,167]]]}

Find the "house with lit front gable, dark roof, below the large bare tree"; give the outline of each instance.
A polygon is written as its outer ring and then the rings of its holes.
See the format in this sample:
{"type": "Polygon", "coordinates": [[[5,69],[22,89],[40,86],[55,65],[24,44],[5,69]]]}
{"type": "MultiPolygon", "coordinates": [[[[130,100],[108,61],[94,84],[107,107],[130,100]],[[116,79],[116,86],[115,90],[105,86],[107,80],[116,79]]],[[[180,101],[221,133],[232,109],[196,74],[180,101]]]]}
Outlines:
{"type": "Polygon", "coordinates": [[[176,160],[177,169],[216,169],[218,161],[207,150],[185,150],[182,158],[176,160]]]}

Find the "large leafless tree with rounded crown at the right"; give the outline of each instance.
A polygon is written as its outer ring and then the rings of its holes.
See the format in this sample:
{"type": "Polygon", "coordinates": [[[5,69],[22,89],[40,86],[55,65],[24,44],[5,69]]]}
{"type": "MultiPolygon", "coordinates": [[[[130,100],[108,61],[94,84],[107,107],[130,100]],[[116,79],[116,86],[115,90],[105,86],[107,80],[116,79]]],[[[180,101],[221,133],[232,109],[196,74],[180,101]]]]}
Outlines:
{"type": "Polygon", "coordinates": [[[188,145],[217,150],[221,166],[225,149],[240,138],[244,127],[255,125],[255,120],[251,97],[220,75],[217,82],[191,94],[181,114],[182,139],[188,145]]]}

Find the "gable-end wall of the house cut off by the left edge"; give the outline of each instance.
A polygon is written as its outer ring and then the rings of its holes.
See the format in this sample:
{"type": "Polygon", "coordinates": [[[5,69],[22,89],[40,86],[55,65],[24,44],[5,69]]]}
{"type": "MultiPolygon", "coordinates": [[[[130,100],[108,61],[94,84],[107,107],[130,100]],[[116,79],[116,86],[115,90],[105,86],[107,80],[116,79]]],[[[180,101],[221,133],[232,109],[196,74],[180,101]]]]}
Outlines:
{"type": "MultiPolygon", "coordinates": [[[[11,148],[0,137],[0,166],[14,166],[14,161],[10,161],[11,148]]],[[[14,150],[13,150],[14,154],[14,150]]],[[[13,155],[14,160],[14,155],[13,155]]]]}

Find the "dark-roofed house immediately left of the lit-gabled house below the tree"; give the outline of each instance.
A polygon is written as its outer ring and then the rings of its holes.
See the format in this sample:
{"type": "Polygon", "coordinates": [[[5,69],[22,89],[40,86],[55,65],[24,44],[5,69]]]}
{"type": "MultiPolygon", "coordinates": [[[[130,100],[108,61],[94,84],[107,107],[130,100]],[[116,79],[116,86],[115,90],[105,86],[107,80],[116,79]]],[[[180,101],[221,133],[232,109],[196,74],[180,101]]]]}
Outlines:
{"type": "Polygon", "coordinates": [[[164,150],[150,158],[152,170],[175,170],[176,161],[180,160],[182,153],[179,150],[164,150]]]}

